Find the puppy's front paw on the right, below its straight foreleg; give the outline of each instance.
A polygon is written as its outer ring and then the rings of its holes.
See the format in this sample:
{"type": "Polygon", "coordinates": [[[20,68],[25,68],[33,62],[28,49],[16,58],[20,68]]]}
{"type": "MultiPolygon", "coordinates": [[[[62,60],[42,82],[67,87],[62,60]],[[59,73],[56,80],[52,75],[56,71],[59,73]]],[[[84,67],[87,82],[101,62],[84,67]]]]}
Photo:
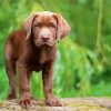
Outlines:
{"type": "Polygon", "coordinates": [[[56,98],[46,99],[46,104],[50,107],[62,107],[62,103],[56,98]]]}

